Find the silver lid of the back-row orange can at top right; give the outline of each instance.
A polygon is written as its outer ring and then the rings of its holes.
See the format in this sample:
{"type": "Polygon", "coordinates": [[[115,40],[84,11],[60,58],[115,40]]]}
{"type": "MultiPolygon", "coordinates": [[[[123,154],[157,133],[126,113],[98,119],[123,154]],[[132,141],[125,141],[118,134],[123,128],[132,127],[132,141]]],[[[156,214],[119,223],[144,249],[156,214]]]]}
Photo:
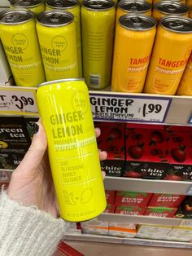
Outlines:
{"type": "Polygon", "coordinates": [[[182,15],[189,11],[189,8],[185,6],[183,3],[179,2],[157,2],[155,5],[155,9],[164,14],[174,14],[174,15],[182,15]]]}

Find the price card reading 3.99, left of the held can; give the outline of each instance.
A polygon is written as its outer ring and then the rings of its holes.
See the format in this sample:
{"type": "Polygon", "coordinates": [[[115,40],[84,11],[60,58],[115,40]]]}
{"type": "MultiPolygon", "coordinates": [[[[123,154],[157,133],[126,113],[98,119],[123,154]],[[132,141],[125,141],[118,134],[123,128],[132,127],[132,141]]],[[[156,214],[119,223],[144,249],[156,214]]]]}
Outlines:
{"type": "Polygon", "coordinates": [[[0,114],[37,116],[36,89],[0,87],[0,114]]]}

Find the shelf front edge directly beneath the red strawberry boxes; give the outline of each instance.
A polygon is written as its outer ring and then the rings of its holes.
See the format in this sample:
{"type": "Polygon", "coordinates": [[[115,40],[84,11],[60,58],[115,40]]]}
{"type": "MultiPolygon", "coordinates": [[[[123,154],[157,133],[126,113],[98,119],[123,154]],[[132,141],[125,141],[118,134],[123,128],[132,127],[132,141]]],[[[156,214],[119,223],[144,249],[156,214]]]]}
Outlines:
{"type": "Polygon", "coordinates": [[[101,214],[98,220],[108,221],[112,223],[138,223],[138,224],[155,224],[163,226],[177,227],[183,221],[182,218],[160,218],[151,216],[131,216],[125,214],[101,214]]]}

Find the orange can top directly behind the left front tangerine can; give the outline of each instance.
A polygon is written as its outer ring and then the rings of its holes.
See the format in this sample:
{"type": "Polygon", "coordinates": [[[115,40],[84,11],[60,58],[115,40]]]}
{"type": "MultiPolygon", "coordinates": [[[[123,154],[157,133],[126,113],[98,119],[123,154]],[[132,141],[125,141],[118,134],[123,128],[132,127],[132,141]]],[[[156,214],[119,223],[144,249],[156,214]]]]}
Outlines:
{"type": "Polygon", "coordinates": [[[129,13],[151,16],[151,3],[146,1],[121,0],[117,5],[116,24],[120,16],[129,13]]]}

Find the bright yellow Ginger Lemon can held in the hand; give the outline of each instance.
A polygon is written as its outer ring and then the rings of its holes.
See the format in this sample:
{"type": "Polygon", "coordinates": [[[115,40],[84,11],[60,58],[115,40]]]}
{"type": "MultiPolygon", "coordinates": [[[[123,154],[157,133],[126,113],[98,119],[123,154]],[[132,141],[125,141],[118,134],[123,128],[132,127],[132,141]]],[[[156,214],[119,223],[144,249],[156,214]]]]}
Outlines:
{"type": "Polygon", "coordinates": [[[106,208],[89,93],[82,79],[46,82],[37,89],[61,217],[79,222],[106,208]]]}

